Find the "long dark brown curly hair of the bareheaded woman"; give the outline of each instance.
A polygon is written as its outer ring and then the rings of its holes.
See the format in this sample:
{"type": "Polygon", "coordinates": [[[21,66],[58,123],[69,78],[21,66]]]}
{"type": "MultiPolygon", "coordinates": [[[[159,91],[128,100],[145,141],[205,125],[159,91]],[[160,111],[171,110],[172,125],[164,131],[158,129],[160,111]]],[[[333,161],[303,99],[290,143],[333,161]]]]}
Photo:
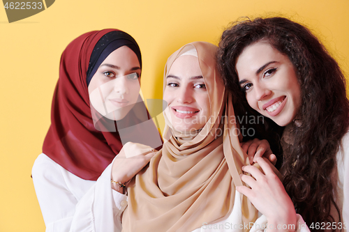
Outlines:
{"type": "Polygon", "coordinates": [[[267,41],[288,56],[297,73],[302,105],[292,123],[292,146],[283,152],[283,185],[308,225],[334,222],[336,153],[348,131],[346,79],[327,49],[305,26],[284,17],[235,22],[223,32],[218,67],[233,98],[246,102],[235,70],[245,47],[267,41]]]}

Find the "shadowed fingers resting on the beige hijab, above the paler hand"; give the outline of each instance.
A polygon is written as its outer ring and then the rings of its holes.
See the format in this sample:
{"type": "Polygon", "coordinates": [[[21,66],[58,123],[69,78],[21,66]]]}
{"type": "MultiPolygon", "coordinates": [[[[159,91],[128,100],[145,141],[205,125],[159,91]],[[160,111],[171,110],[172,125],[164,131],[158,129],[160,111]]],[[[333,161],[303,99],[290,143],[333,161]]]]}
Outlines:
{"type": "Polygon", "coordinates": [[[258,157],[266,157],[272,164],[276,164],[276,156],[270,149],[269,142],[266,139],[253,139],[241,142],[242,150],[248,155],[250,164],[253,164],[258,157]]]}

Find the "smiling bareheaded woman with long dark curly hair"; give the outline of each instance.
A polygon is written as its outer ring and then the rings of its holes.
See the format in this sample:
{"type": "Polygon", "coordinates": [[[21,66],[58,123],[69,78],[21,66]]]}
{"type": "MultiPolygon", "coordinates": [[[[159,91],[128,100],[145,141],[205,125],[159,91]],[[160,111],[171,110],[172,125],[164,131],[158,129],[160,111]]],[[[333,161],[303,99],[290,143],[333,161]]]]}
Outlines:
{"type": "Polygon", "coordinates": [[[329,52],[296,22],[257,18],[223,32],[218,65],[236,100],[283,128],[285,191],[277,192],[281,182],[254,167],[244,171],[255,179],[242,176],[251,190],[237,190],[265,215],[282,215],[287,192],[310,229],[346,229],[349,104],[345,77],[329,52]]]}

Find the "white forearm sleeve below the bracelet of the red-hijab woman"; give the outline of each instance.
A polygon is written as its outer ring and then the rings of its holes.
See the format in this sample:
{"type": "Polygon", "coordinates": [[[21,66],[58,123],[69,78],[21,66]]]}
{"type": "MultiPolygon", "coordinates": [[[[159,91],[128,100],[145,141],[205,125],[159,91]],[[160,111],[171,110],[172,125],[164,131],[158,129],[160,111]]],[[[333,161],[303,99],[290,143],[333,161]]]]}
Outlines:
{"type": "Polygon", "coordinates": [[[127,196],[112,190],[110,164],[77,203],[70,232],[119,232],[127,196]]]}

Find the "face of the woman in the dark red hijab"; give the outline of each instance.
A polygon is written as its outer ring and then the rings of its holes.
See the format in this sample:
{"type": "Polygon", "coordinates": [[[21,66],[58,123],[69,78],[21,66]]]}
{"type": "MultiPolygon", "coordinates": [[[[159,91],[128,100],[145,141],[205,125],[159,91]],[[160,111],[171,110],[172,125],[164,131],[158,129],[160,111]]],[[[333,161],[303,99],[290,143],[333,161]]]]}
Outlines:
{"type": "Polygon", "coordinates": [[[140,62],[126,46],[110,53],[89,83],[91,105],[114,121],[128,114],[140,92],[140,62]]]}

